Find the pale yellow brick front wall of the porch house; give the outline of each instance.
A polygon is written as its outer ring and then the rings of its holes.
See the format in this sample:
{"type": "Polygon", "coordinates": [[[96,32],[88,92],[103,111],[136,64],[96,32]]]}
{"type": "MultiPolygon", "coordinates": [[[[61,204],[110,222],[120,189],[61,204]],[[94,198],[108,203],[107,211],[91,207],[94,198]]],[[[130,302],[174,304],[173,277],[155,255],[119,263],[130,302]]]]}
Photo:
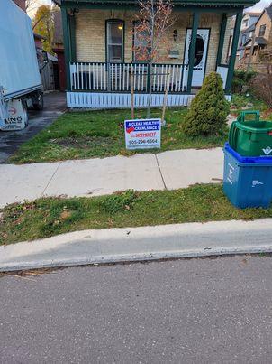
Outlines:
{"type": "MultiPolygon", "coordinates": [[[[75,14],[76,25],[76,53],[79,62],[105,62],[105,23],[110,19],[122,19],[124,22],[124,61],[131,62],[133,58],[133,19],[134,13],[131,11],[110,10],[86,10],[75,14]],[[89,47],[92,44],[92,47],[89,47]]],[[[229,19],[230,22],[231,19],[229,19]]],[[[169,57],[168,49],[161,47],[159,49],[159,61],[166,63],[182,63],[184,61],[184,52],[186,44],[186,28],[191,28],[193,17],[189,13],[177,12],[177,22],[168,30],[168,39],[171,50],[178,51],[175,59],[169,57]],[[182,19],[182,21],[181,21],[182,19]],[[173,39],[173,31],[177,30],[177,40],[173,39]]],[[[210,28],[209,50],[206,61],[206,74],[215,70],[217,49],[219,42],[221,25],[221,15],[214,13],[202,14],[199,22],[200,28],[210,28]]],[[[226,40],[229,38],[231,28],[228,24],[226,29],[226,40]]],[[[224,42],[222,59],[226,59],[228,42],[224,42]]]]}

